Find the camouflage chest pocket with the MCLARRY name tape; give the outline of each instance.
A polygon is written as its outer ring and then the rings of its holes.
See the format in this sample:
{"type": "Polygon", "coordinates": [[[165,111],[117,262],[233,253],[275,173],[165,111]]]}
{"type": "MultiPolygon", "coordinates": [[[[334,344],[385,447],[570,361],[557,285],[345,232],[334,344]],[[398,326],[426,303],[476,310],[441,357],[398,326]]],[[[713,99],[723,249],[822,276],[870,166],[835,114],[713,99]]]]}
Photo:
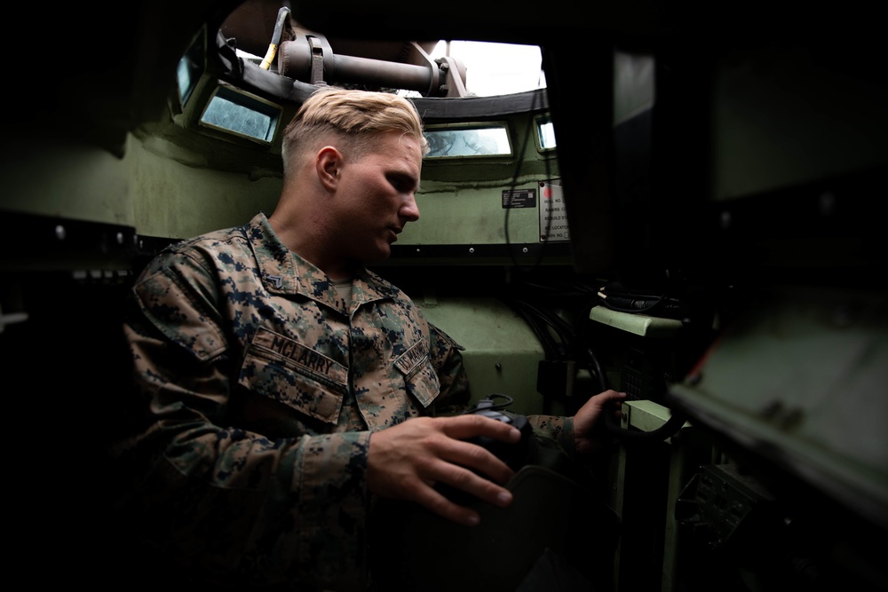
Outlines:
{"type": "Polygon", "coordinates": [[[259,328],[247,348],[238,383],[321,422],[336,424],[348,391],[348,370],[302,343],[259,328]]]}

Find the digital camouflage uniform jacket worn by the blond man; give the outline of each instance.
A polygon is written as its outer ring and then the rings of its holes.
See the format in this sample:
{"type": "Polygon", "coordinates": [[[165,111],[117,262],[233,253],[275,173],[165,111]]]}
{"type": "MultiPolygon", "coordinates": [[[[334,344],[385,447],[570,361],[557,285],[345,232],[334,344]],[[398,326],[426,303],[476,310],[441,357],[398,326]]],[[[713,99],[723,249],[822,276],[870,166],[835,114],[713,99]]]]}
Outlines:
{"type": "MultiPolygon", "coordinates": [[[[220,583],[366,588],[370,433],[464,410],[462,348],[373,272],[341,296],[261,213],[155,257],[124,329],[145,539],[220,583]]],[[[572,447],[571,418],[532,421],[572,447]]]]}

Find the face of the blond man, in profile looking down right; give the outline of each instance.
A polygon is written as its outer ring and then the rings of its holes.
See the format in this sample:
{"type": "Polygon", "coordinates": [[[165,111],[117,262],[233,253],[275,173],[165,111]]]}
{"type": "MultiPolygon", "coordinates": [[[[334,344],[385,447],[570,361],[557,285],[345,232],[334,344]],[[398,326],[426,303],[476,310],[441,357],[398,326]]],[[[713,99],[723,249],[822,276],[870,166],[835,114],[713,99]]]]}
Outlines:
{"type": "Polygon", "coordinates": [[[422,166],[419,143],[400,131],[380,135],[372,150],[343,163],[334,197],[343,257],[368,264],[392,254],[404,225],[419,219],[422,166]]]}

